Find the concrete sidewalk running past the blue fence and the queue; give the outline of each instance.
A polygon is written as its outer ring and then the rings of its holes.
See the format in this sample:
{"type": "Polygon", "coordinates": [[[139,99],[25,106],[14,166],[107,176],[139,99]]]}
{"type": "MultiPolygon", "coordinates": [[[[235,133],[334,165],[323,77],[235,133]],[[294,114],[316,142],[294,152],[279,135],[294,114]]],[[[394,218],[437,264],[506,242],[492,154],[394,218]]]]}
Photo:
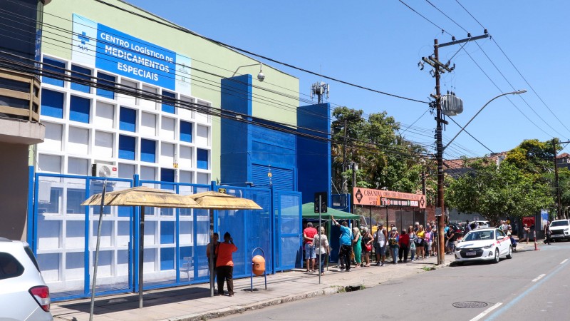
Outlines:
{"type": "MultiPolygon", "coordinates": [[[[520,244],[519,251],[534,250],[534,243],[520,244]]],[[[146,291],[144,305],[138,308],[138,295],[126,294],[99,297],[95,300],[95,320],[206,320],[269,305],[302,300],[317,295],[332,295],[347,290],[374,287],[409,277],[433,268],[444,267],[453,261],[445,255],[445,265],[437,266],[435,257],[383,267],[359,267],[351,272],[340,272],[329,267],[318,284],[316,273],[304,270],[267,275],[267,290],[263,277],[254,277],[254,290],[249,292],[249,277],[234,280],[233,297],[209,297],[209,284],[190,285],[163,290],[146,291]]],[[[90,300],[58,302],[51,305],[56,320],[88,320],[90,300]]]]}

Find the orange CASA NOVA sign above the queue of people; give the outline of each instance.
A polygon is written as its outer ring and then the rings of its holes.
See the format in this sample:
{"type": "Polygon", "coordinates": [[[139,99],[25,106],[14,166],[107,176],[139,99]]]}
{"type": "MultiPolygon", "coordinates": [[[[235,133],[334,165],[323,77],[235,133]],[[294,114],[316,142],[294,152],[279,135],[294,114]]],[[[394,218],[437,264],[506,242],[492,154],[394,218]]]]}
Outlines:
{"type": "Polygon", "coordinates": [[[422,194],[373,190],[371,188],[353,188],[353,196],[355,205],[425,208],[425,195],[422,194]]]}

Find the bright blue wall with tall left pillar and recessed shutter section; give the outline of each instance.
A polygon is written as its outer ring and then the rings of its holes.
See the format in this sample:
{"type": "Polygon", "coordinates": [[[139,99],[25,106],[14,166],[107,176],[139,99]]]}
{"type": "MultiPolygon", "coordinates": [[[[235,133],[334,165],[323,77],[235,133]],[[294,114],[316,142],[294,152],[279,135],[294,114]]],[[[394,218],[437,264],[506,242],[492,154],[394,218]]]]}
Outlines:
{"type": "MultiPolygon", "coordinates": [[[[222,110],[252,116],[251,75],[222,80],[222,110]]],[[[297,190],[295,135],[267,128],[282,127],[271,121],[247,116],[242,119],[263,125],[222,118],[222,183],[245,185],[251,182],[260,188],[297,190]]]]}

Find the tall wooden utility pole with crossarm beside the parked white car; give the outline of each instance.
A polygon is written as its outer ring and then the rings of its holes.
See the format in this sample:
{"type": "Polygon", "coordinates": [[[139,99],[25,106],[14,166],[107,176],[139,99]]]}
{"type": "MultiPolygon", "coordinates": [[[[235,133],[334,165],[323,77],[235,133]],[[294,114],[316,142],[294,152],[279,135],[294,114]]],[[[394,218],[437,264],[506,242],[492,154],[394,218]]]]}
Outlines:
{"type": "MultiPolygon", "coordinates": [[[[445,123],[447,125],[447,121],[442,118],[442,99],[440,93],[440,73],[444,73],[445,71],[451,72],[454,68],[450,67],[450,62],[441,63],[440,62],[440,47],[451,46],[455,44],[462,44],[467,43],[469,41],[474,41],[477,39],[483,39],[489,37],[487,34],[487,30],[485,30],[484,35],[472,37],[471,34],[467,34],[467,39],[462,40],[455,40],[445,43],[445,44],[438,44],[437,39],[433,41],[433,58],[423,57],[422,60],[432,66],[434,68],[434,78],[435,78],[435,108],[436,108],[436,116],[435,121],[437,121],[437,127],[435,128],[435,141],[436,141],[436,158],[437,158],[437,200],[436,200],[436,208],[435,213],[437,216],[437,264],[442,265],[445,264],[445,238],[443,235],[443,230],[445,228],[445,220],[444,220],[444,212],[445,212],[445,200],[444,200],[444,191],[443,191],[443,143],[442,143],[442,131],[443,126],[442,124],[445,123]]],[[[464,45],[465,46],[465,45],[464,45]]]]}

